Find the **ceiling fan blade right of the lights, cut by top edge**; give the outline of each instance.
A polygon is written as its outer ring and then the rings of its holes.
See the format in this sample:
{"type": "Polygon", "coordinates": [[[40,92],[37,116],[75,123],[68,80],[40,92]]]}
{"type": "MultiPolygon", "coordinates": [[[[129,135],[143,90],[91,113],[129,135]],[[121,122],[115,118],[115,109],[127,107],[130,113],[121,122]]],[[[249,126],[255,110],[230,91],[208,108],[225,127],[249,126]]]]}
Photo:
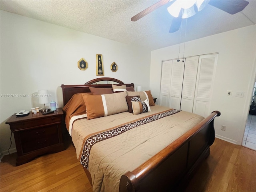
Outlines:
{"type": "Polygon", "coordinates": [[[246,0],[210,0],[210,5],[229,14],[236,14],[249,4],[246,0]]]}

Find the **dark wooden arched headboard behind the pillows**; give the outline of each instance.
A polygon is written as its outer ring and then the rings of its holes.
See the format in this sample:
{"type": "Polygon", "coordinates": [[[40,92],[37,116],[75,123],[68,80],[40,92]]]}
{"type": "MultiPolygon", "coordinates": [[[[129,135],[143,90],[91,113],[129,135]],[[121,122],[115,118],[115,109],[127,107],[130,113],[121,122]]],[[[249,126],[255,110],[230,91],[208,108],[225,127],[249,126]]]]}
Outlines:
{"type": "Polygon", "coordinates": [[[89,87],[98,87],[98,88],[112,88],[112,84],[94,84],[101,81],[107,81],[107,82],[116,82],[119,85],[126,85],[126,87],[133,87],[134,84],[124,84],[124,82],[109,78],[109,77],[102,77],[102,78],[96,78],[93,80],[90,80],[86,82],[84,85],[61,85],[62,87],[62,94],[63,94],[63,104],[64,106],[67,104],[67,102],[72,98],[74,94],[77,93],[90,93],[89,87]]]}

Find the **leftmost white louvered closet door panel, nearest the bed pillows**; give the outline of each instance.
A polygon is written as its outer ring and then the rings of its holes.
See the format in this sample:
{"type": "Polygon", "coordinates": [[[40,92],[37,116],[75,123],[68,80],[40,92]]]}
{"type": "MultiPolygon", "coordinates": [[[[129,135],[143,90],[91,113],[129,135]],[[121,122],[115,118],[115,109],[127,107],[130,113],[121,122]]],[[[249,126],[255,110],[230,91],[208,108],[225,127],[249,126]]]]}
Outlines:
{"type": "Polygon", "coordinates": [[[165,107],[169,106],[171,73],[172,73],[172,60],[163,61],[159,105],[165,106],[165,107]]]}

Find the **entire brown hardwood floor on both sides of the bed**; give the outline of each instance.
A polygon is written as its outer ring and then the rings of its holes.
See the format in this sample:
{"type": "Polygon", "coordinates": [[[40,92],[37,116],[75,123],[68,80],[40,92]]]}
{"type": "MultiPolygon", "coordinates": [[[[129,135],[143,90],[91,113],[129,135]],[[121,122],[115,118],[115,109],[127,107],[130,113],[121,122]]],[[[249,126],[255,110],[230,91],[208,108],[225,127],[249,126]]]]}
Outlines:
{"type": "MultiPolygon", "coordinates": [[[[1,192],[92,192],[72,144],[17,167],[15,160],[10,154],[1,161],[1,192]]],[[[184,191],[256,192],[256,151],[216,138],[184,191]]]]}

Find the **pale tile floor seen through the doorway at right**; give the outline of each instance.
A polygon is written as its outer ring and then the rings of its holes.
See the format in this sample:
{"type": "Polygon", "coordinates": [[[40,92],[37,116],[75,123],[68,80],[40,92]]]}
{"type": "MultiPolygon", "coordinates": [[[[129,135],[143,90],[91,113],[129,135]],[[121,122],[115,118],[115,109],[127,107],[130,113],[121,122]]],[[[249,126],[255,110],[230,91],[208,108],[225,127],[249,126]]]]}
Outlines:
{"type": "Polygon", "coordinates": [[[256,115],[248,116],[242,146],[256,150],[256,115]]]}

